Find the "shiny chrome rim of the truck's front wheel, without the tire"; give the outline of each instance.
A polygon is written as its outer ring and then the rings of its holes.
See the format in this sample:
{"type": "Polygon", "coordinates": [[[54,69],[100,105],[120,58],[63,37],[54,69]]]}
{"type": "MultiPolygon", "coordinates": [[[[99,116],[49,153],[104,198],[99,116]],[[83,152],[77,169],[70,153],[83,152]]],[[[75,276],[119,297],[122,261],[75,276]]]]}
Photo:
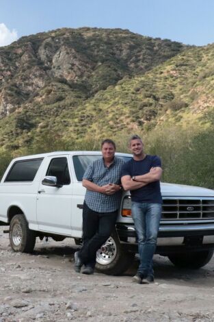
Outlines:
{"type": "Polygon", "coordinates": [[[116,258],[117,246],[112,237],[109,237],[105,244],[96,252],[96,262],[107,265],[116,258]]]}

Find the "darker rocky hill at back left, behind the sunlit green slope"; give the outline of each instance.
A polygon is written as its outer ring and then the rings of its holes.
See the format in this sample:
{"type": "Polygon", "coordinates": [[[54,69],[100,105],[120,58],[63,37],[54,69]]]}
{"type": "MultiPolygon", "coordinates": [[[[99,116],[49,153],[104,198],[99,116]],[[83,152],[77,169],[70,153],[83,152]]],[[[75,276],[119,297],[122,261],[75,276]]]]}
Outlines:
{"type": "Polygon", "coordinates": [[[183,49],[178,42],[122,29],[64,28],[23,37],[0,48],[0,118],[23,108],[49,84],[64,82],[90,97],[183,49]]]}

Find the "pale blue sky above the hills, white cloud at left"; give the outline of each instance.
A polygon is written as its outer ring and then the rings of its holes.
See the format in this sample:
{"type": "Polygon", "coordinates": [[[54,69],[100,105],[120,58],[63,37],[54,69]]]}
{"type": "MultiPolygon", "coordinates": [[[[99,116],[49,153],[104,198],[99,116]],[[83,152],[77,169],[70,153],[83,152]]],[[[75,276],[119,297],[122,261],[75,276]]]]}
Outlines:
{"type": "Polygon", "coordinates": [[[207,45],[214,42],[213,17],[214,0],[0,0],[0,46],[61,27],[119,27],[207,45]]]}

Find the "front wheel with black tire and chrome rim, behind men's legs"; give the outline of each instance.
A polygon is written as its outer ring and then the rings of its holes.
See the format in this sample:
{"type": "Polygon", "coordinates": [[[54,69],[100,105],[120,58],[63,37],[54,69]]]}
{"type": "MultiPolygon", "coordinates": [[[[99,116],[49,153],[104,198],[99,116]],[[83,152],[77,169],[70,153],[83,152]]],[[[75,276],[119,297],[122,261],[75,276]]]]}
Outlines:
{"type": "Polygon", "coordinates": [[[134,258],[135,253],[126,251],[116,232],[113,232],[96,252],[96,269],[107,275],[120,275],[129,269],[134,258]]]}

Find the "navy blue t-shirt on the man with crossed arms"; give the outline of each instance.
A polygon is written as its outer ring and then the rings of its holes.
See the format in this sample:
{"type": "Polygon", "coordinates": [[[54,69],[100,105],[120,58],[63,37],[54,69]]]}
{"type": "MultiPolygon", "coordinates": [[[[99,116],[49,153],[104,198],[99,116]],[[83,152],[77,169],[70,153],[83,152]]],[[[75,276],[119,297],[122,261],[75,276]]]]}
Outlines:
{"type": "MultiPolygon", "coordinates": [[[[161,167],[161,159],[159,156],[146,155],[144,160],[129,160],[122,166],[122,177],[124,175],[144,175],[150,171],[152,166],[161,167]]],[[[131,200],[136,202],[162,203],[160,182],[155,181],[146,184],[142,188],[131,190],[131,200]]]]}

